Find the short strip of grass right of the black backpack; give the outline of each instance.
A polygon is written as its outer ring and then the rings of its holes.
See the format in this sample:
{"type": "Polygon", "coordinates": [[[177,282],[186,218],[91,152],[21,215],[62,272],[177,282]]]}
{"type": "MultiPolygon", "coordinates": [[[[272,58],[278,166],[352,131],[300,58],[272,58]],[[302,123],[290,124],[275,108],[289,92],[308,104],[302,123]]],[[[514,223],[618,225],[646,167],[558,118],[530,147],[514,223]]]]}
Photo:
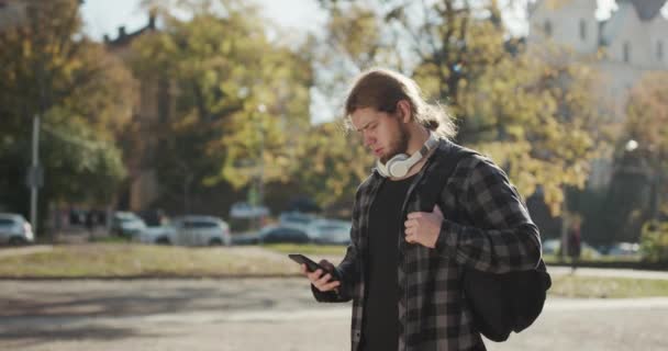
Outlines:
{"type": "Polygon", "coordinates": [[[553,275],[549,294],[564,297],[653,297],[668,296],[668,280],[553,275]]]}

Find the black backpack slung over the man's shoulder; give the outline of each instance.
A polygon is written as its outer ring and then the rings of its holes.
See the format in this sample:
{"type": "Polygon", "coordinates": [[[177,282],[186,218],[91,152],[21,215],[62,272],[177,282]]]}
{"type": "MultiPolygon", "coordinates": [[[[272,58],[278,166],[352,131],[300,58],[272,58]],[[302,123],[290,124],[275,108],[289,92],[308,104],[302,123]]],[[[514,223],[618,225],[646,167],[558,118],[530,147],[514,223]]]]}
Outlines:
{"type": "MultiPolygon", "coordinates": [[[[434,204],[443,204],[443,186],[455,171],[459,160],[478,152],[452,144],[446,155],[435,155],[438,165],[421,185],[420,207],[431,212],[434,204]],[[423,188],[424,186],[424,188],[423,188]],[[428,202],[428,203],[426,203],[428,202]]],[[[458,222],[463,214],[449,219],[458,222]]],[[[552,280],[543,259],[530,271],[487,273],[465,268],[464,294],[474,313],[478,331],[492,341],[505,341],[512,331],[520,332],[531,326],[543,310],[552,280]]]]}

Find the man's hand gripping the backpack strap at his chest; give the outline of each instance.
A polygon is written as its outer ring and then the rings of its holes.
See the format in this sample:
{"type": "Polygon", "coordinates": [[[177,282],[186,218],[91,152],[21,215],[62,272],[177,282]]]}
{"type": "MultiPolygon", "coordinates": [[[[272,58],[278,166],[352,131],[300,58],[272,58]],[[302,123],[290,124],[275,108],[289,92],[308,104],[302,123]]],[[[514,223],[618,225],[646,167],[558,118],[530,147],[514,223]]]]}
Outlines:
{"type": "Polygon", "coordinates": [[[434,206],[434,212],[409,213],[408,220],[404,223],[405,241],[434,249],[442,224],[443,213],[438,205],[434,206]]]}

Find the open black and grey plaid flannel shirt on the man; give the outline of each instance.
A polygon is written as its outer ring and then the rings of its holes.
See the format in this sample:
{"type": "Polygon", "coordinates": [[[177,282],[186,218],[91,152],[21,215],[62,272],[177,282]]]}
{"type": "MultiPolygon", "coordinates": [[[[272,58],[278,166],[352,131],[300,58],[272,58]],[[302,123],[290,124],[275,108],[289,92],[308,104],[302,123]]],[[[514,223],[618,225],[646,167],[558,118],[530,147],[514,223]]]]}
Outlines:
{"type": "MultiPolygon", "coordinates": [[[[442,139],[430,156],[407,193],[404,216],[421,211],[420,185],[434,167],[444,167],[435,156],[453,147],[442,139]]],[[[353,351],[361,339],[369,210],[383,181],[375,171],[357,189],[352,244],[335,272],[342,279],[338,292],[322,293],[312,286],[319,302],[353,299],[353,351]]],[[[397,228],[400,351],[485,350],[460,284],[464,267],[504,273],[534,269],[541,259],[538,228],[505,173],[491,160],[480,155],[459,160],[441,199],[445,218],[435,249],[405,242],[404,228],[397,228]],[[459,215],[448,216],[455,213],[459,215]],[[453,217],[459,220],[448,219],[453,217]]]]}

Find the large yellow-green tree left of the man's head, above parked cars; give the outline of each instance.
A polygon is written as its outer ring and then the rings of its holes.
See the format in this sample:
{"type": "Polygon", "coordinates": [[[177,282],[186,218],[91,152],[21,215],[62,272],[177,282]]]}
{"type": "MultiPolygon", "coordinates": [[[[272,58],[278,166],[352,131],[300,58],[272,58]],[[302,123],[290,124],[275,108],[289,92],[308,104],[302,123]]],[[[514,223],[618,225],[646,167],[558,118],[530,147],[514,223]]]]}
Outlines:
{"type": "Polygon", "coordinates": [[[158,154],[169,157],[155,160],[163,195],[182,194],[187,211],[189,197],[222,183],[241,190],[259,177],[288,179],[291,136],[309,123],[309,43],[269,39],[258,10],[242,1],[181,1],[187,20],[170,12],[170,1],[147,5],[165,25],[133,44],[133,70],[166,76],[178,91],[160,132],[158,154]]]}

